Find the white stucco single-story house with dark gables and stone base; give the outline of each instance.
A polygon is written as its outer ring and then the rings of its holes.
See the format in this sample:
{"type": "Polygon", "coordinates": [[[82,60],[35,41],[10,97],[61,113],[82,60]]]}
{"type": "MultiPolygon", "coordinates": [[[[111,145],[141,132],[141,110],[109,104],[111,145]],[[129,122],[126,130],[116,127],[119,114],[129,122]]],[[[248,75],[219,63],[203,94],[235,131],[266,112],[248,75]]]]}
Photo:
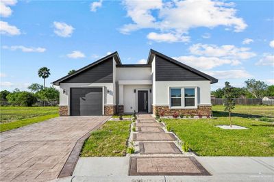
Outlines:
{"type": "Polygon", "coordinates": [[[117,52],[66,75],[60,115],[88,116],[164,110],[165,115],[211,114],[210,84],[218,82],[171,57],[149,52],[147,64],[122,64],[117,52]]]}

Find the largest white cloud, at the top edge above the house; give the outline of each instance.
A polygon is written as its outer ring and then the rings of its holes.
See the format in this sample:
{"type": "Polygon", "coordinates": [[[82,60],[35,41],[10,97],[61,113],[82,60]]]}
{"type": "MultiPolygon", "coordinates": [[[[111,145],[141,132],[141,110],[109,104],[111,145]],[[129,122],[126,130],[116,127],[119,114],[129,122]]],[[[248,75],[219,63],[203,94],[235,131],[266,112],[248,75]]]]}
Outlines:
{"type": "MultiPolygon", "coordinates": [[[[189,29],[195,27],[217,26],[232,27],[234,31],[242,31],[247,27],[242,18],[236,16],[234,3],[210,0],[186,1],[134,1],[124,0],[127,16],[132,23],[123,25],[120,31],[129,34],[138,29],[157,29],[159,33],[173,34],[183,37],[189,29]]],[[[166,39],[164,39],[166,40],[166,39]]],[[[167,40],[171,42],[171,40],[167,40]]],[[[175,41],[173,41],[175,42],[175,41]]]]}

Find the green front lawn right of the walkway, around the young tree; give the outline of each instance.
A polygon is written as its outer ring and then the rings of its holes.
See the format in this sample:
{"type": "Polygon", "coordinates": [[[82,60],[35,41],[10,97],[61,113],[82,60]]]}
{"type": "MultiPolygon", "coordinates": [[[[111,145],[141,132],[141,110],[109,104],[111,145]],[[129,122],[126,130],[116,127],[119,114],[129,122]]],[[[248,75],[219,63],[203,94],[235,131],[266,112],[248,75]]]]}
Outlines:
{"type": "Polygon", "coordinates": [[[233,117],[234,125],[249,129],[227,130],[227,117],[217,119],[164,119],[173,132],[202,156],[274,156],[274,125],[249,118],[233,117]]]}

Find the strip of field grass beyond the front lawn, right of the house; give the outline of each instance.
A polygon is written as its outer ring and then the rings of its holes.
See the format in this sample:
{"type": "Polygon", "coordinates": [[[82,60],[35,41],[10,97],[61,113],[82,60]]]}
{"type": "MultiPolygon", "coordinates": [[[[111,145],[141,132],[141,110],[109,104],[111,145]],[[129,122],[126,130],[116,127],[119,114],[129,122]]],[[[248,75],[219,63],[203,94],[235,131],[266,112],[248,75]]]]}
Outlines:
{"type": "MultiPolygon", "coordinates": [[[[213,116],[228,116],[224,112],[223,105],[213,105],[213,116]]],[[[242,118],[260,118],[263,116],[274,118],[274,105],[236,105],[232,110],[232,116],[239,116],[242,118]]]]}

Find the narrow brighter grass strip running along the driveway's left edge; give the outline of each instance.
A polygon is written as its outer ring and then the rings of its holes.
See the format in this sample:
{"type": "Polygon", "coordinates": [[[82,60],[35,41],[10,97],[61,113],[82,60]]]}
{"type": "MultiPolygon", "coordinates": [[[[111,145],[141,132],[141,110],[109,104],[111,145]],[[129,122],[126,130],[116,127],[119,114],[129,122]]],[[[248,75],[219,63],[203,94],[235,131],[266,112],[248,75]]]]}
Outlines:
{"type": "Polygon", "coordinates": [[[5,123],[0,124],[0,132],[20,128],[20,127],[23,127],[23,126],[26,126],[26,125],[34,124],[36,122],[41,122],[43,120],[48,120],[48,119],[51,119],[51,118],[55,118],[57,116],[58,116],[58,114],[49,114],[49,115],[45,115],[45,116],[37,116],[37,117],[34,117],[34,118],[16,120],[14,122],[5,122],[5,123]]]}

